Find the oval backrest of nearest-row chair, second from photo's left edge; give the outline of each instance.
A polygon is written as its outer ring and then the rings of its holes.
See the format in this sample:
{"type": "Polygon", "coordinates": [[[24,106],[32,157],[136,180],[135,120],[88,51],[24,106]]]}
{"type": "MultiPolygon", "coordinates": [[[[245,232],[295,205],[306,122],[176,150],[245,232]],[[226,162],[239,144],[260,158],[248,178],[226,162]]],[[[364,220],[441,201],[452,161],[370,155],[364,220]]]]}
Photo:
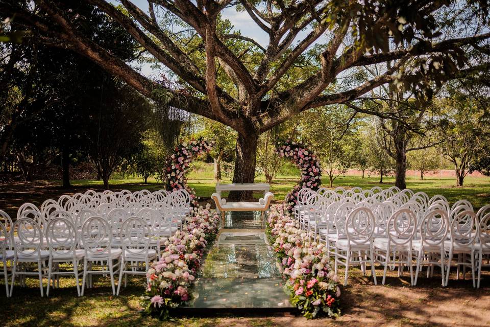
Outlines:
{"type": "Polygon", "coordinates": [[[18,218],[10,232],[10,242],[14,248],[15,256],[40,256],[41,245],[43,241],[42,230],[31,218],[18,218]],[[14,235],[17,238],[14,238],[14,235]]]}

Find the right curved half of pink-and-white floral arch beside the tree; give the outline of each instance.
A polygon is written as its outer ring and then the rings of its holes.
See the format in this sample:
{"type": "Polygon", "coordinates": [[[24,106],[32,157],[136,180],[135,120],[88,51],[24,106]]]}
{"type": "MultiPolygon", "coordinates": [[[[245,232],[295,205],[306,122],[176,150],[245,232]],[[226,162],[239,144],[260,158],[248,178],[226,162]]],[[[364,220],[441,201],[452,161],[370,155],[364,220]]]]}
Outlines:
{"type": "Polygon", "coordinates": [[[316,154],[308,146],[291,141],[278,142],[276,153],[280,157],[286,157],[301,171],[301,180],[291,192],[286,195],[286,208],[292,212],[292,208],[298,204],[298,192],[303,188],[313,191],[320,188],[322,170],[316,154]]]}

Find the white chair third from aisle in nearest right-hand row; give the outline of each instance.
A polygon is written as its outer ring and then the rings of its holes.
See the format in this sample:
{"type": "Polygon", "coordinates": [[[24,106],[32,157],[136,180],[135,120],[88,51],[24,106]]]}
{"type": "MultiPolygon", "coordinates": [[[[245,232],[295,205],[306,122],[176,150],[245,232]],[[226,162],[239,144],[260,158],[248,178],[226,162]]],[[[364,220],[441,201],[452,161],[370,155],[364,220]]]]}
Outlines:
{"type": "Polygon", "coordinates": [[[412,249],[417,253],[415,281],[417,285],[422,265],[427,265],[427,276],[433,272],[434,265],[440,267],[442,286],[446,286],[444,242],[448,235],[449,218],[446,211],[435,209],[427,214],[419,223],[420,239],[412,241],[412,249]]]}

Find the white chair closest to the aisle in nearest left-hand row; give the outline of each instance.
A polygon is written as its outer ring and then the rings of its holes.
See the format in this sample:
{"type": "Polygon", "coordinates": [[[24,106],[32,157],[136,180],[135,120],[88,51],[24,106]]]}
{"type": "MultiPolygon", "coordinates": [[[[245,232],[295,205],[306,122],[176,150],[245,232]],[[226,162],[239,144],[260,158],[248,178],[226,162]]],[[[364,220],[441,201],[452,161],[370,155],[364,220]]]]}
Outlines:
{"type": "MultiPolygon", "coordinates": [[[[152,233],[146,221],[138,217],[129,217],[121,228],[120,239],[122,243],[121,269],[117,295],[121,289],[122,276],[124,275],[124,287],[126,287],[128,275],[146,275],[150,267],[150,261],[157,258],[157,252],[149,249],[152,233]],[[144,263],[144,270],[138,270],[144,263]]],[[[146,276],[146,283],[149,283],[146,276]]]]}

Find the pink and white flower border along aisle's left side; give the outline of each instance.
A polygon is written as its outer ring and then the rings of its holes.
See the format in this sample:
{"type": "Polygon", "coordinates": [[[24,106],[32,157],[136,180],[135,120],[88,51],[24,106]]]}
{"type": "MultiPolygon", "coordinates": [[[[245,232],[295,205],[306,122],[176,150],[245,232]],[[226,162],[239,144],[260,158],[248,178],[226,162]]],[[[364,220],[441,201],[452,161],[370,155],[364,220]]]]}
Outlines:
{"type": "Polygon", "coordinates": [[[191,299],[193,284],[206,245],[214,240],[219,216],[210,210],[210,204],[193,208],[182,231],[177,231],[165,242],[158,261],[146,272],[149,283],[142,297],[144,314],[169,318],[169,310],[191,299]]]}

